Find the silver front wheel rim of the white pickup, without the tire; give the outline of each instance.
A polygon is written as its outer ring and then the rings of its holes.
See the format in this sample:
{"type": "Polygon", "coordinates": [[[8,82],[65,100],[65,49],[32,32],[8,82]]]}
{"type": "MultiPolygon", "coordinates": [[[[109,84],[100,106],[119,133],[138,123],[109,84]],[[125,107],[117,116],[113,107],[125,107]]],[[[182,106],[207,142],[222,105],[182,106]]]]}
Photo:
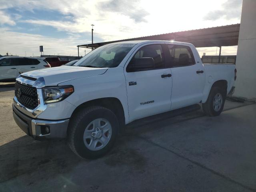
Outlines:
{"type": "Polygon", "coordinates": [[[112,126],[104,118],[98,118],[88,124],[84,130],[84,144],[92,151],[104,148],[110,141],[112,126]]]}

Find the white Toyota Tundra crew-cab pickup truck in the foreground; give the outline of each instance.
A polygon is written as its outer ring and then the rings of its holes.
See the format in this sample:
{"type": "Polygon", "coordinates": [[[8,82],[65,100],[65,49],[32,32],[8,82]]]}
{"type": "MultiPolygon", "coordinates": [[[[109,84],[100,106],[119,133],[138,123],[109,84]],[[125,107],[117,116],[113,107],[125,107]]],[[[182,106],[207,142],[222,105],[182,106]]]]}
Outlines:
{"type": "Polygon", "coordinates": [[[234,64],[202,64],[189,43],[118,42],[74,66],[21,74],[13,116],[35,139],[68,138],[78,156],[97,158],[136,119],[197,103],[218,116],[235,80],[234,64]]]}

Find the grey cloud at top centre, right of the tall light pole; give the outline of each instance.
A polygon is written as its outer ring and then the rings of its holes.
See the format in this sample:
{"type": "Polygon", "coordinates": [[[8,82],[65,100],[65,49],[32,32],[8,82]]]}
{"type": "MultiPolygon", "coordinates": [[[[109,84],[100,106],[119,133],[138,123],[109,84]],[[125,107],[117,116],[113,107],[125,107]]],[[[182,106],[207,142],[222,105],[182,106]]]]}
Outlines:
{"type": "Polygon", "coordinates": [[[144,17],[149,14],[140,8],[139,1],[135,0],[107,0],[98,2],[98,7],[104,12],[116,12],[129,16],[135,22],[146,22],[147,20],[144,17]]]}

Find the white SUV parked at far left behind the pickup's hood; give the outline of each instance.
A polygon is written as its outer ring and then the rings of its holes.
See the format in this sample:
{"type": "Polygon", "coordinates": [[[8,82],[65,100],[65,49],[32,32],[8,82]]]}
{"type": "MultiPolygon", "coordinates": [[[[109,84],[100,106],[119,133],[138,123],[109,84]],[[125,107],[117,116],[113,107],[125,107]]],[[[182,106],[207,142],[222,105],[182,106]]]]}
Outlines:
{"type": "Polygon", "coordinates": [[[0,58],[0,81],[15,80],[20,74],[51,67],[45,58],[8,56],[0,58]]]}

